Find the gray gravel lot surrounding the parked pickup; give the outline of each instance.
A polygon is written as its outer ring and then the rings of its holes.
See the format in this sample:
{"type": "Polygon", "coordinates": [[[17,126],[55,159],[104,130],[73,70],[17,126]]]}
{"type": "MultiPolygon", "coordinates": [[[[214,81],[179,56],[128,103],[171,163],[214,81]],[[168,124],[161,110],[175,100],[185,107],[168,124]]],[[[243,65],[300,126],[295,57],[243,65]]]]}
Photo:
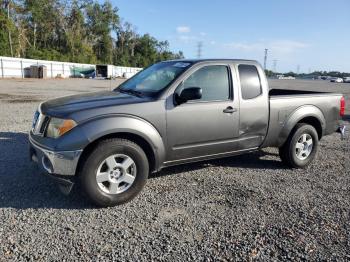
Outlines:
{"type": "MultiPolygon", "coordinates": [[[[0,260],[350,260],[350,145],[338,134],[306,170],[268,148],[165,169],[123,206],[62,195],[28,160],[33,112],[117,82],[0,80],[0,260]]],[[[350,94],[350,84],[280,84],[350,94]]]]}

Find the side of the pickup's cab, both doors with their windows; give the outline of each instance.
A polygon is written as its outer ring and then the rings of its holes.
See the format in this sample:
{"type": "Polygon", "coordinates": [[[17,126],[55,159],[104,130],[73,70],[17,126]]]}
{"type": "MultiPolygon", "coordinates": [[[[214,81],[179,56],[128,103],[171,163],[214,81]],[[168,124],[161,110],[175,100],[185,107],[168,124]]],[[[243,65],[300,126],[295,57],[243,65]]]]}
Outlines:
{"type": "Polygon", "coordinates": [[[188,70],[165,94],[167,162],[258,148],[268,128],[268,85],[253,61],[206,61],[188,70]],[[176,99],[191,87],[197,99],[176,99]]]}

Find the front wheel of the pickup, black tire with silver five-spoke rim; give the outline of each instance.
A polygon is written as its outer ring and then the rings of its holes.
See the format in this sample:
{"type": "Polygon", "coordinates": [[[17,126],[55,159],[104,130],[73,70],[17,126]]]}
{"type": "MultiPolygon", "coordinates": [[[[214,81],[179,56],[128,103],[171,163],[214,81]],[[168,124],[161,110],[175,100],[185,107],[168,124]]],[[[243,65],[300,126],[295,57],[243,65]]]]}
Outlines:
{"type": "Polygon", "coordinates": [[[146,184],[149,163],[142,148],[132,141],[113,138],[101,141],[88,155],[79,174],[90,200],[100,207],[132,200],[146,184]]]}

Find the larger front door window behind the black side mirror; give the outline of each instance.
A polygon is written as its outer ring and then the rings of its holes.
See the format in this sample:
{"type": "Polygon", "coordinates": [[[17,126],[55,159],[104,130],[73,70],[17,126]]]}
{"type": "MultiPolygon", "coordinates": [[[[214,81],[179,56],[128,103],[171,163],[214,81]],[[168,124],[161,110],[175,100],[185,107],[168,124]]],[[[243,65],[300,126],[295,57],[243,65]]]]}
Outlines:
{"type": "Polygon", "coordinates": [[[227,100],[230,98],[229,79],[227,66],[205,66],[189,76],[181,84],[178,91],[181,92],[188,87],[200,87],[202,88],[202,98],[199,101],[227,100]]]}

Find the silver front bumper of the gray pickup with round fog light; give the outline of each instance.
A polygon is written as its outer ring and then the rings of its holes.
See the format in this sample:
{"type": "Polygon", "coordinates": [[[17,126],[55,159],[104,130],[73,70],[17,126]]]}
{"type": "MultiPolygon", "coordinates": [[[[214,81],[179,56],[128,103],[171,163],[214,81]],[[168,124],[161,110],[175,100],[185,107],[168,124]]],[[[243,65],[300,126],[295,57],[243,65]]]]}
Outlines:
{"type": "Polygon", "coordinates": [[[78,161],[83,150],[53,151],[38,145],[29,138],[30,159],[38,164],[39,169],[50,175],[72,177],[76,173],[78,161]]]}

